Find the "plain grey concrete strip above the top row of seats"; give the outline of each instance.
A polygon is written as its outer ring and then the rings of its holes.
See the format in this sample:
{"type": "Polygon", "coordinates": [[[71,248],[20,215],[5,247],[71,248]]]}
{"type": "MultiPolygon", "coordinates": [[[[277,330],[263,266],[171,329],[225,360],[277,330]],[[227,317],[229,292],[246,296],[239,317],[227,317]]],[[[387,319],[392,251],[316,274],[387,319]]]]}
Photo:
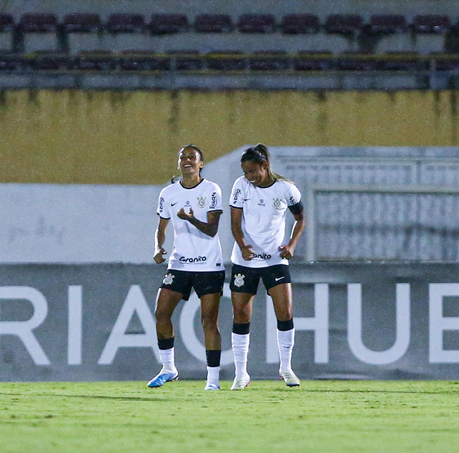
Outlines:
{"type": "Polygon", "coordinates": [[[334,13],[358,13],[365,18],[371,14],[406,14],[411,18],[416,14],[459,14],[459,5],[453,0],[3,0],[0,5],[17,16],[24,12],[55,12],[63,15],[67,12],[97,12],[106,16],[111,12],[138,12],[142,14],[160,12],[184,12],[190,16],[199,13],[225,13],[238,16],[244,13],[274,13],[279,16],[289,12],[311,12],[324,19],[334,13]]]}

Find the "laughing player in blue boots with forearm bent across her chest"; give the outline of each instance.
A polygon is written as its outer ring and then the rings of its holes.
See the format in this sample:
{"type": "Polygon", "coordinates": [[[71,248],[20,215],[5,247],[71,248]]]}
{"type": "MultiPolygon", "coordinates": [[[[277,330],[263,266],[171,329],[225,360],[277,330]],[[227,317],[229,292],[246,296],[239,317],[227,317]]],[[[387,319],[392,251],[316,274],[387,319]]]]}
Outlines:
{"type": "Polygon", "coordinates": [[[204,159],[195,145],[179,152],[182,179],[162,189],[159,195],[159,224],[155,235],[155,262],[165,261],[162,245],[169,221],[174,228],[174,249],[156,299],[156,330],[162,369],[148,382],[161,387],[179,376],[174,363],[174,329],[171,316],[181,299],[188,300],[191,288],[201,299],[201,321],[207,356],[205,390],[218,390],[221,338],[218,304],[223,294],[224,265],[218,239],[222,211],[220,187],[201,177],[204,159]]]}

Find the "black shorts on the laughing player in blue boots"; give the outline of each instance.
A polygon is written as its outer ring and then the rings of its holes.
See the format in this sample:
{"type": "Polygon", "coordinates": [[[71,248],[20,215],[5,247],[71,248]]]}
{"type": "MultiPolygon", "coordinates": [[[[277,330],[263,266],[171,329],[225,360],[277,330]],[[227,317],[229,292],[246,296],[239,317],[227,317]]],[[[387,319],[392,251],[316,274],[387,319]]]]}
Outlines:
{"type": "Polygon", "coordinates": [[[182,299],[188,300],[192,288],[199,298],[214,293],[223,295],[224,280],[225,271],[190,272],[168,269],[160,288],[181,293],[182,299]]]}

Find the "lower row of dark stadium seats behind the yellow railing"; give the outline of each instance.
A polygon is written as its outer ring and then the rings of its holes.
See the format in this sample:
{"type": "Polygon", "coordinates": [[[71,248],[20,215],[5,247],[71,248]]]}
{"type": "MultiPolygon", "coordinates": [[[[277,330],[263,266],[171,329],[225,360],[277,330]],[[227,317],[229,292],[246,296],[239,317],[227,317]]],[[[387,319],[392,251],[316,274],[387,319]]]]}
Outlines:
{"type": "Polygon", "coordinates": [[[0,71],[457,71],[459,55],[345,52],[0,54],[0,71]]]}

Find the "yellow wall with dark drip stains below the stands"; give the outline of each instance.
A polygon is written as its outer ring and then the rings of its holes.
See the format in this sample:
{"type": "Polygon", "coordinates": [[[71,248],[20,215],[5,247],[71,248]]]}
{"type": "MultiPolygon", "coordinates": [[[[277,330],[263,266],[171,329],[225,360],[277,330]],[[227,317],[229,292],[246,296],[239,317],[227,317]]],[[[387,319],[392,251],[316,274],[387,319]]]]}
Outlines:
{"type": "Polygon", "coordinates": [[[0,92],[0,182],[161,184],[190,142],[456,146],[458,93],[0,92]]]}

